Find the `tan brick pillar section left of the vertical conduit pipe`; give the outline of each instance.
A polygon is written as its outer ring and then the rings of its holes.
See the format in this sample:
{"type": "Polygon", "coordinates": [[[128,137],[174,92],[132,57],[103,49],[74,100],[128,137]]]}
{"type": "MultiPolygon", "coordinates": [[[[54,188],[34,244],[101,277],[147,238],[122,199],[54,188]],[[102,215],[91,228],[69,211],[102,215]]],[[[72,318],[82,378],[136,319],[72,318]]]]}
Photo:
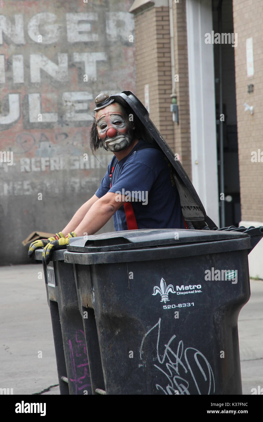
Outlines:
{"type": "Polygon", "coordinates": [[[144,85],[149,84],[150,118],[173,148],[169,34],[168,7],[153,7],[135,16],[136,93],[144,103],[144,85]]]}

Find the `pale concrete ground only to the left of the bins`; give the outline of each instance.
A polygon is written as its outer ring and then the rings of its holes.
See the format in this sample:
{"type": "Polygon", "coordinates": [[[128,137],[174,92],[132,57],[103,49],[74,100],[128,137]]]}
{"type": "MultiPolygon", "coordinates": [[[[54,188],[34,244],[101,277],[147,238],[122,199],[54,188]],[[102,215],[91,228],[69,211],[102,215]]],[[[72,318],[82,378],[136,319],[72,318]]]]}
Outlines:
{"type": "Polygon", "coordinates": [[[0,387],[14,394],[60,394],[41,274],[41,264],[0,267],[0,387]]]}

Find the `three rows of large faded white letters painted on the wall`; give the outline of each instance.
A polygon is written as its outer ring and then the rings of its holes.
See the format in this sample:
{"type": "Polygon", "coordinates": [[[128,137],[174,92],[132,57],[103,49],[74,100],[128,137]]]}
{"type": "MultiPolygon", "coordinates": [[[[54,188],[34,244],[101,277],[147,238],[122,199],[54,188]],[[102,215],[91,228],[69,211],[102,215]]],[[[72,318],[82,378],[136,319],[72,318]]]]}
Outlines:
{"type": "MultiPolygon", "coordinates": [[[[30,3],[23,2],[28,7],[30,3]]],[[[38,3],[41,5],[43,2],[38,3]]],[[[7,54],[0,54],[0,84],[4,96],[0,113],[1,130],[6,130],[22,118],[23,127],[27,128],[55,127],[67,125],[68,122],[92,120],[90,104],[93,103],[94,94],[90,85],[98,80],[98,62],[111,62],[110,51],[92,51],[89,46],[99,47],[100,27],[95,29],[98,13],[65,13],[62,16],[64,26],[56,23],[57,19],[56,14],[49,12],[34,14],[27,23],[23,14],[0,15],[0,45],[3,51],[7,51],[7,54]],[[78,51],[79,43],[82,48],[78,51]],[[50,52],[50,48],[46,47],[51,44],[54,44],[54,48],[62,45],[64,50],[71,47],[71,51],[60,52],[56,48],[51,57],[51,54],[46,54],[46,50],[50,52]],[[83,51],[83,44],[89,51],[83,51]],[[12,54],[12,51],[19,51],[23,47],[26,54],[12,54]],[[83,74],[76,72],[78,65],[83,74]],[[78,85],[82,88],[85,83],[85,90],[72,89],[78,85]],[[8,92],[8,85],[12,86],[14,92],[8,92]],[[34,88],[34,92],[24,92],[21,85],[26,86],[28,91],[34,88]],[[70,90],[62,91],[60,85],[68,86],[70,90]],[[20,88],[19,92],[15,92],[16,86],[20,88]],[[43,89],[44,86],[46,89],[43,89]],[[49,108],[52,111],[48,111],[49,108]]],[[[132,16],[127,12],[106,12],[105,19],[103,35],[108,44],[116,44],[119,40],[118,43],[128,46],[133,32],[132,16]]]]}

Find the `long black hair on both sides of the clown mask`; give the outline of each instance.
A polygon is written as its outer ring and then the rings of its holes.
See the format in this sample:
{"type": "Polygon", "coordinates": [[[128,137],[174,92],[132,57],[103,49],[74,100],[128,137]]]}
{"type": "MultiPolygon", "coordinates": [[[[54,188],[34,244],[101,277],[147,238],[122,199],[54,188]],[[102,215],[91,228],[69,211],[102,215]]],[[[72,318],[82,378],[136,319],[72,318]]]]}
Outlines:
{"type": "MultiPolygon", "coordinates": [[[[124,108],[125,112],[127,113],[127,116],[129,116],[130,114],[133,115],[133,121],[130,122],[130,124],[132,126],[135,126],[135,129],[133,130],[134,138],[142,139],[145,142],[152,143],[153,142],[152,136],[147,132],[146,128],[141,123],[141,121],[138,119],[136,114],[132,111],[132,109],[129,106],[126,106],[126,105],[125,106],[122,105],[122,107],[124,108]]],[[[105,149],[103,142],[98,137],[97,123],[96,123],[96,120],[95,120],[95,116],[93,116],[92,124],[90,126],[89,139],[90,139],[90,148],[92,150],[92,154],[94,153],[94,151],[96,151],[99,148],[105,149]]]]}

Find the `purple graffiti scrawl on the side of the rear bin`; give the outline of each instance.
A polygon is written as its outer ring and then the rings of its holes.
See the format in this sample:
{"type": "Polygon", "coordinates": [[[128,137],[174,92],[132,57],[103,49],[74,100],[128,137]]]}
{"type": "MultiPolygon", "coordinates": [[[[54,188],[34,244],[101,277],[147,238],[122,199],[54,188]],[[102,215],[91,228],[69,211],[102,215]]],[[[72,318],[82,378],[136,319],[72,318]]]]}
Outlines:
{"type": "Polygon", "coordinates": [[[73,379],[70,378],[70,381],[75,383],[75,394],[77,394],[78,391],[91,386],[86,342],[82,330],[76,331],[73,341],[69,340],[69,349],[73,371],[73,379]]]}

